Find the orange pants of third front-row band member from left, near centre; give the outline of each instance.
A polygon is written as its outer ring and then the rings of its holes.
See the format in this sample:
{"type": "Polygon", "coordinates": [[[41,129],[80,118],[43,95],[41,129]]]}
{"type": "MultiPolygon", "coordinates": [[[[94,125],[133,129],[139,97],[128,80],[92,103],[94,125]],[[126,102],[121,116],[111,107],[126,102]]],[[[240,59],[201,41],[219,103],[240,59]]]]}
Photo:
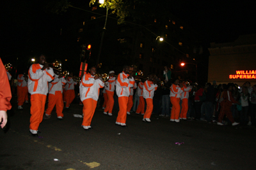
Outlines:
{"type": "Polygon", "coordinates": [[[118,97],[119,111],[118,116],[116,118],[116,122],[125,124],[127,116],[127,103],[128,97],[118,97]]]}

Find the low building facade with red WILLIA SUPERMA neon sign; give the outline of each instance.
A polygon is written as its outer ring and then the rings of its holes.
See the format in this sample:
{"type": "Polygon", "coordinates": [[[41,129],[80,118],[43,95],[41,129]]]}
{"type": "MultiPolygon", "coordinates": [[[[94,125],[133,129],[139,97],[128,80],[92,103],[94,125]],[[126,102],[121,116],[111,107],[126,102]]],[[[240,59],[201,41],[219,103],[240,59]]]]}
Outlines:
{"type": "Polygon", "coordinates": [[[256,84],[256,34],[239,36],[230,43],[211,43],[208,81],[256,84]]]}

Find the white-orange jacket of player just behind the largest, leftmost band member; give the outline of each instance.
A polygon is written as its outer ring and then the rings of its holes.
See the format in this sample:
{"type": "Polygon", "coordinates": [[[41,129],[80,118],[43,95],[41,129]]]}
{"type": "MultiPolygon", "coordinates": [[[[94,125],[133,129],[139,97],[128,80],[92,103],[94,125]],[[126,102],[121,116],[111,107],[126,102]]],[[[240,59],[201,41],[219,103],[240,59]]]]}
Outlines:
{"type": "Polygon", "coordinates": [[[56,91],[61,91],[61,93],[63,93],[62,86],[65,85],[65,83],[67,83],[67,81],[63,77],[61,77],[61,78],[58,78],[58,77],[59,76],[57,74],[55,74],[54,80],[49,82],[49,94],[55,95],[56,91]]]}

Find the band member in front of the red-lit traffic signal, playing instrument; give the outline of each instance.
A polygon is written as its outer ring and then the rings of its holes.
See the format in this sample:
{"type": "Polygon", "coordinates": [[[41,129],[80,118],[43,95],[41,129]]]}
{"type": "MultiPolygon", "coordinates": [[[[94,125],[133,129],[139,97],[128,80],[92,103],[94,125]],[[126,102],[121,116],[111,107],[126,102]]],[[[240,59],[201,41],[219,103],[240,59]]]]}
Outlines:
{"type": "Polygon", "coordinates": [[[92,128],[91,122],[97,107],[100,88],[104,87],[104,82],[99,79],[99,76],[95,76],[96,71],[96,67],[91,67],[89,73],[84,74],[80,83],[80,99],[84,104],[82,126],[85,130],[92,128]]]}

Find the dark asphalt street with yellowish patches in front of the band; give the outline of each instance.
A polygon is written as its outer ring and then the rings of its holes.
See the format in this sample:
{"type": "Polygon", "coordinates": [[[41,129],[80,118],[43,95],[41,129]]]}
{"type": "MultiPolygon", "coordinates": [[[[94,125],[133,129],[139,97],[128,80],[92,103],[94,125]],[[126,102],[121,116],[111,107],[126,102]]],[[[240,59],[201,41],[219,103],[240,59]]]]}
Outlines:
{"type": "Polygon", "coordinates": [[[71,104],[63,120],[55,110],[38,137],[29,133],[29,108],[13,103],[0,131],[0,169],[255,169],[255,127],[219,126],[202,121],[170,122],[152,115],[127,115],[127,127],[97,108],[92,127],[81,127],[83,106],[71,104]]]}

